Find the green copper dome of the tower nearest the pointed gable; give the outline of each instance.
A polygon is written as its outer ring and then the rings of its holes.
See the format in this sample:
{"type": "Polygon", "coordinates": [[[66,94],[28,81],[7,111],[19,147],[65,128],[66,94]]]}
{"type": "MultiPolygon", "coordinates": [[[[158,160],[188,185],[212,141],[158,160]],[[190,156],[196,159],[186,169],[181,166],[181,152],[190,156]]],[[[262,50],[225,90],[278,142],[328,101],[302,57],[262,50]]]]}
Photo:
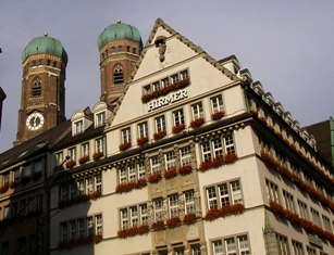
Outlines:
{"type": "Polygon", "coordinates": [[[120,39],[129,39],[137,41],[143,47],[141,37],[138,29],[132,25],[121,23],[120,21],[116,24],[111,24],[99,35],[98,47],[99,50],[106,46],[108,42],[120,39]]]}

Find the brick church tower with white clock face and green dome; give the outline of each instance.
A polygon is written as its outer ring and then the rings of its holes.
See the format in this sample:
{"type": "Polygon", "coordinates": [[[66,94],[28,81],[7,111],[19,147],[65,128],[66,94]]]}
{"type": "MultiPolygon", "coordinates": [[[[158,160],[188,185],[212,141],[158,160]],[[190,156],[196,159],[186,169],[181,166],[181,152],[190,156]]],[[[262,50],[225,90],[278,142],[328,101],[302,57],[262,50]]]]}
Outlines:
{"type": "Polygon", "coordinates": [[[48,35],[34,38],[22,53],[23,77],[14,145],[55,127],[65,118],[65,68],[62,43],[48,35]]]}

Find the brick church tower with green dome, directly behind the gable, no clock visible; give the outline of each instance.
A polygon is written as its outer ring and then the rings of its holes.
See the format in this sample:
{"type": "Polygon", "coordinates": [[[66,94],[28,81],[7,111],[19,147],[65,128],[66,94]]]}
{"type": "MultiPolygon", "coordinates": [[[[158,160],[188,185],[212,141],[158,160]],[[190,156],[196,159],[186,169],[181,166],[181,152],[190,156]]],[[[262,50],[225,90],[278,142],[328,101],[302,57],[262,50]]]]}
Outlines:
{"type": "Polygon", "coordinates": [[[99,35],[101,100],[115,101],[124,91],[139,59],[143,42],[138,29],[119,21],[99,35]]]}

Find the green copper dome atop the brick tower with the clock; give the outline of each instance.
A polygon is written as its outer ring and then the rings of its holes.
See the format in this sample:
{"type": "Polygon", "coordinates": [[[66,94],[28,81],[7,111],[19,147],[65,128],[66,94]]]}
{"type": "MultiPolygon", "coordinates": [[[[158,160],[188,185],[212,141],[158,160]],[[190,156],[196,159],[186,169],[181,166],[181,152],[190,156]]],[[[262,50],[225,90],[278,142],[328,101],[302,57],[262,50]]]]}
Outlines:
{"type": "Polygon", "coordinates": [[[36,37],[25,47],[22,52],[22,62],[25,62],[30,55],[50,54],[62,58],[62,61],[67,63],[67,53],[60,40],[49,37],[48,35],[36,37]]]}

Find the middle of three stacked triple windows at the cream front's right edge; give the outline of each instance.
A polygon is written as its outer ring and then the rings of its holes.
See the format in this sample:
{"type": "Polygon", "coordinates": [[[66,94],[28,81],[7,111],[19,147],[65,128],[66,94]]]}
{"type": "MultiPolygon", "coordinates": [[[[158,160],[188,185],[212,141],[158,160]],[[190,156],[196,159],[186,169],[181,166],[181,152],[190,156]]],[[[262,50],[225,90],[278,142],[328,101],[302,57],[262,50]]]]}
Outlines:
{"type": "Polygon", "coordinates": [[[208,208],[217,209],[223,205],[242,204],[243,195],[240,181],[235,180],[218,186],[209,187],[207,190],[208,208]]]}

